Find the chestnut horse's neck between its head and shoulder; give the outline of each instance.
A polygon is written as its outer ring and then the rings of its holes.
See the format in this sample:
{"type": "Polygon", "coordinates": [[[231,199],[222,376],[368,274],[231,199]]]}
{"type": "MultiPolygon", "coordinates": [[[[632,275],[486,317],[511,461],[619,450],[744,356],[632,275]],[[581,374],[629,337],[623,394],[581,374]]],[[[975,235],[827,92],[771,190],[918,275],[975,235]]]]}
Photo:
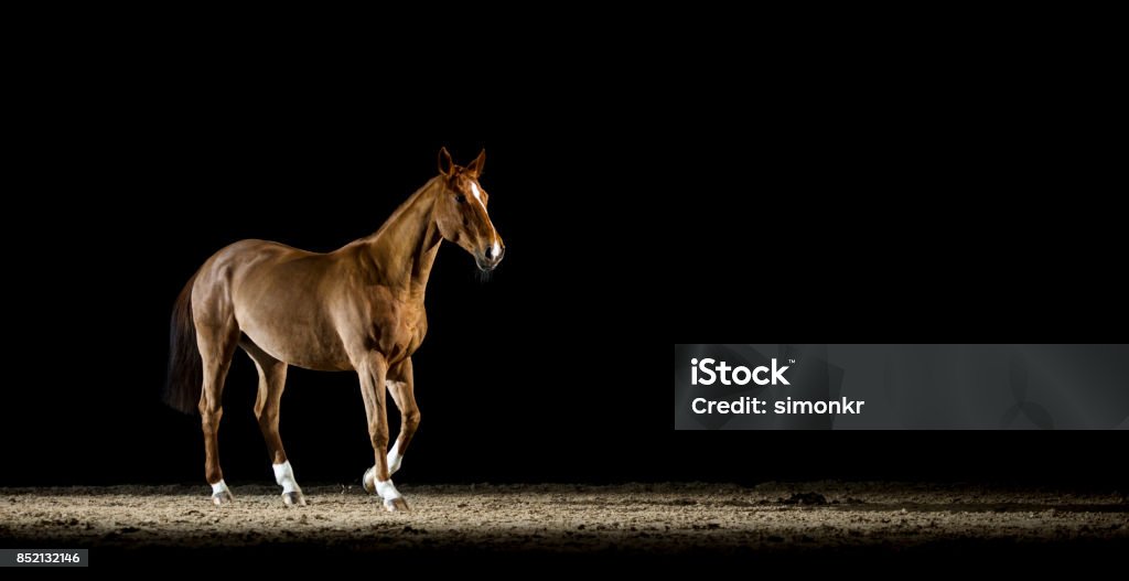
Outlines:
{"type": "Polygon", "coordinates": [[[400,205],[373,236],[357,240],[377,282],[422,300],[443,237],[435,223],[431,179],[400,205]]]}

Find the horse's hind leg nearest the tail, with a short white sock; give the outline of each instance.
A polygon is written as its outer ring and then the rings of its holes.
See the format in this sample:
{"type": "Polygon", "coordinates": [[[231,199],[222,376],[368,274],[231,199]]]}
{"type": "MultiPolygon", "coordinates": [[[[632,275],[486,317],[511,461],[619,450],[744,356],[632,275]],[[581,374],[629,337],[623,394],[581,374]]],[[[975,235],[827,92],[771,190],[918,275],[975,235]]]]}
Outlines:
{"type": "Polygon", "coordinates": [[[231,491],[219,467],[219,421],[224,416],[224,381],[231,367],[231,355],[239,331],[235,318],[198,316],[196,346],[203,360],[203,388],[200,391],[200,425],[204,432],[204,475],[212,486],[212,502],[231,501],[231,491]]]}

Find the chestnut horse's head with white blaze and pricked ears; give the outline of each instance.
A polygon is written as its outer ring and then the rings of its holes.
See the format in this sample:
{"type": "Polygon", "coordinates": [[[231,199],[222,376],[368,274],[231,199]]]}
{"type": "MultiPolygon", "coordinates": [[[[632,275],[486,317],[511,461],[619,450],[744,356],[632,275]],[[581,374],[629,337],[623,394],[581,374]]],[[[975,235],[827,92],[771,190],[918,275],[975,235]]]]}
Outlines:
{"type": "Polygon", "coordinates": [[[456,166],[450,160],[447,148],[439,150],[439,200],[436,202],[435,218],[439,234],[474,256],[474,262],[483,272],[498,266],[506,254],[498,230],[487,213],[490,195],[479,184],[479,176],[487,164],[487,152],[466,167],[456,166]]]}

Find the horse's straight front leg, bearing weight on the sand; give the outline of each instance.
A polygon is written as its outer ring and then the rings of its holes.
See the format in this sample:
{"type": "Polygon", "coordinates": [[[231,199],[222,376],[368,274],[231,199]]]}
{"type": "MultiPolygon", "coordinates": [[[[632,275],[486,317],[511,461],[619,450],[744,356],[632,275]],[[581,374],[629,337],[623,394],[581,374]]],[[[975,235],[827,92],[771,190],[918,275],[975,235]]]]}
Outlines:
{"type": "Polygon", "coordinates": [[[357,376],[360,379],[360,395],[365,398],[365,413],[368,415],[368,434],[373,440],[373,452],[376,464],[365,472],[362,479],[365,490],[376,492],[384,500],[384,508],[390,512],[408,510],[408,503],[392,484],[388,474],[388,408],[385,405],[385,376],[388,364],[384,355],[373,351],[356,363],[357,376]]]}

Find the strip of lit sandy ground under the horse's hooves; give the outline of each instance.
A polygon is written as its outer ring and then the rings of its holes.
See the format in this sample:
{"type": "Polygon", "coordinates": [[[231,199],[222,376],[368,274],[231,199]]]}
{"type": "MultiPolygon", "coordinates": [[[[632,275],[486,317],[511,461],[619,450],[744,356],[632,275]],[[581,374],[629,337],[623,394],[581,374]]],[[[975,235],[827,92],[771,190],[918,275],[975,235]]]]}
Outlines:
{"type": "Polygon", "coordinates": [[[981,552],[1110,556],[1129,549],[1120,493],[874,483],[401,486],[412,512],[359,487],[0,488],[0,546],[129,555],[682,557],[921,556],[981,552]],[[203,551],[204,553],[201,553],[203,551]]]}

